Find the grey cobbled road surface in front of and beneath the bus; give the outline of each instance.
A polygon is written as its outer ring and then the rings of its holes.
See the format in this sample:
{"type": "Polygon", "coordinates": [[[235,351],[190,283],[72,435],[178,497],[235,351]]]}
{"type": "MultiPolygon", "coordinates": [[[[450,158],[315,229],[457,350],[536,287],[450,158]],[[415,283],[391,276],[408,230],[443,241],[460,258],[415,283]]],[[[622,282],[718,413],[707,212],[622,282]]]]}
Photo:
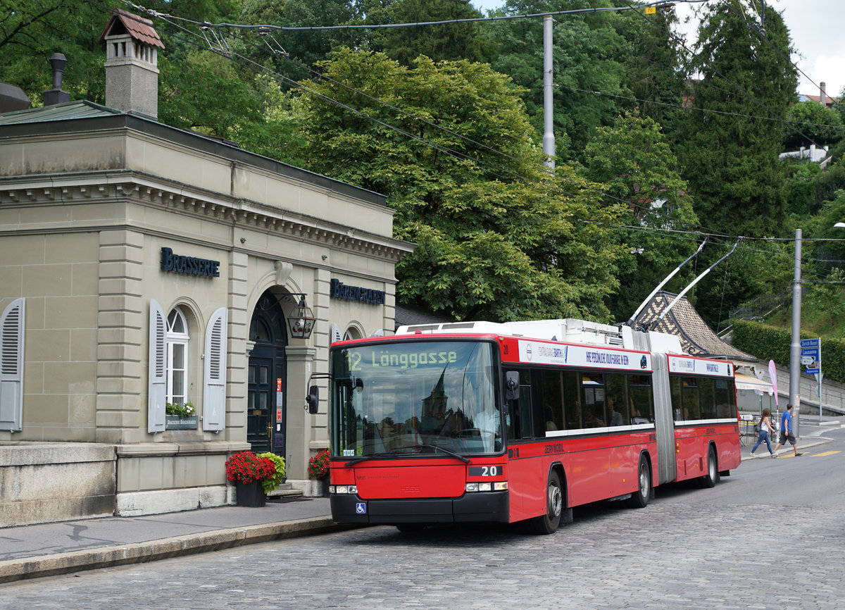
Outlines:
{"type": "Polygon", "coordinates": [[[713,489],[662,488],[646,509],[576,509],[553,536],[346,531],[0,585],[0,608],[833,610],[845,607],[845,431],[826,436],[798,458],[746,460],[713,489]]]}

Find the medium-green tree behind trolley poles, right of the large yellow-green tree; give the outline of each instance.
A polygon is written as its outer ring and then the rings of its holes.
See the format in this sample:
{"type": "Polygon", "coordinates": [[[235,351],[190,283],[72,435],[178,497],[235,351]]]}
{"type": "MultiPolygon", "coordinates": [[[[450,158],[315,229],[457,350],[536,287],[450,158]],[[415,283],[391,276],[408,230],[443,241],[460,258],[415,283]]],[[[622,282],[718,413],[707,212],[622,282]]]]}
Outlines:
{"type": "MultiPolygon", "coordinates": [[[[624,289],[609,300],[614,319],[627,320],[651,291],[695,251],[695,240],[666,230],[690,231],[697,218],[660,126],[638,112],[619,117],[612,127],[597,128],[586,145],[585,173],[602,182],[608,195],[624,201],[624,226],[612,231],[623,246],[619,283],[624,289]]],[[[690,268],[691,269],[691,268],[690,268]]],[[[678,290],[688,283],[679,275],[666,287],[678,290]]]]}

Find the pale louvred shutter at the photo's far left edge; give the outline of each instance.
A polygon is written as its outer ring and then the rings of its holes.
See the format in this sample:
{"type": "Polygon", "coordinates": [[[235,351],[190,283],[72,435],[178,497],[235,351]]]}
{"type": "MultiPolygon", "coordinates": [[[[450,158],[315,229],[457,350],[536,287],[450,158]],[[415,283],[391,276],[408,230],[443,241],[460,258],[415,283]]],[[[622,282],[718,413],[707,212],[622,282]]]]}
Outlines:
{"type": "Polygon", "coordinates": [[[25,299],[0,316],[0,430],[20,430],[24,415],[25,299]]]}

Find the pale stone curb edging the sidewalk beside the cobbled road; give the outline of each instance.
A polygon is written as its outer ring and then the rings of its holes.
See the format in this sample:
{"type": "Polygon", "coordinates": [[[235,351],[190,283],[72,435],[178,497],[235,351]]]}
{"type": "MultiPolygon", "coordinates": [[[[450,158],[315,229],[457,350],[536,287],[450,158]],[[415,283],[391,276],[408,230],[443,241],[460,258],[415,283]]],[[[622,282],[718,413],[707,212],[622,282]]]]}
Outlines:
{"type": "Polygon", "coordinates": [[[331,520],[331,517],[326,516],[261,526],[205,531],[188,536],[122,544],[117,547],[91,548],[71,553],[10,559],[0,562],[0,583],[81,572],[87,569],[110,568],[117,565],[144,564],[158,559],[355,528],[357,526],[339,525],[331,520]]]}

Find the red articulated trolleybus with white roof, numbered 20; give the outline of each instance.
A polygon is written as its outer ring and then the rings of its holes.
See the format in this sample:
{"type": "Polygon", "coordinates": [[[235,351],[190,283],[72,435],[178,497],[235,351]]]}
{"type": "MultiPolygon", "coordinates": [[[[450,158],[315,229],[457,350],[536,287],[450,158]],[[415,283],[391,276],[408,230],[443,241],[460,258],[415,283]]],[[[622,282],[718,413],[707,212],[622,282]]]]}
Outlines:
{"type": "MultiPolygon", "coordinates": [[[[330,503],[401,531],[531,520],[739,466],[733,364],[678,337],[559,319],[402,327],[330,348],[330,503]]],[[[312,386],[308,404],[318,403],[312,386]]]]}

